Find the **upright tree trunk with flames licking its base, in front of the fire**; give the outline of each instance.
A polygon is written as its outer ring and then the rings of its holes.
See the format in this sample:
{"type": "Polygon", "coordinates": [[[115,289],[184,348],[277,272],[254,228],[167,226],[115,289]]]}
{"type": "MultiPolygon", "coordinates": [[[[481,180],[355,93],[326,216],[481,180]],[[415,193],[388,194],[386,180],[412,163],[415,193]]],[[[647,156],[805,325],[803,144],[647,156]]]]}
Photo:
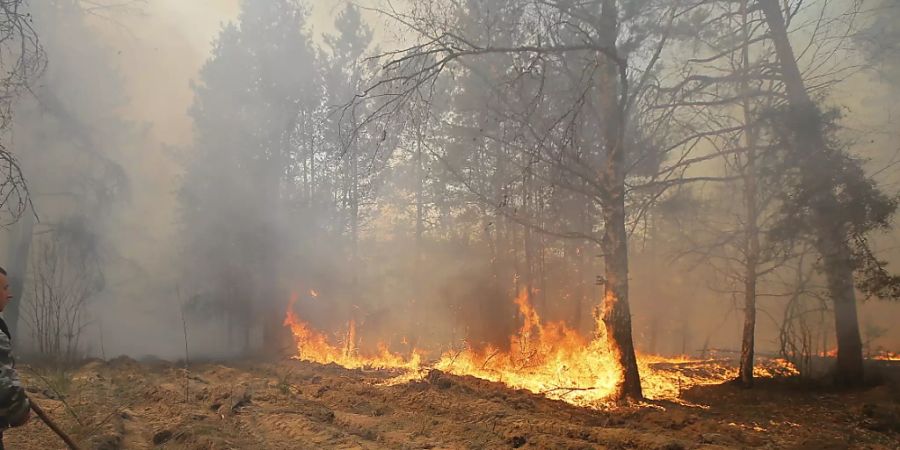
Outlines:
{"type": "MultiPolygon", "coordinates": [[[[615,49],[618,30],[618,8],[615,0],[604,0],[600,21],[605,31],[601,45],[615,49]]],[[[605,293],[600,317],[606,327],[610,351],[622,371],[622,379],[616,387],[619,400],[643,398],[638,373],[634,341],[631,336],[631,308],[628,304],[628,234],[625,227],[625,146],[624,110],[619,93],[620,69],[624,62],[608,55],[600,70],[599,104],[603,112],[603,139],[605,161],[600,193],[603,207],[602,249],[605,261],[605,293]]]]}

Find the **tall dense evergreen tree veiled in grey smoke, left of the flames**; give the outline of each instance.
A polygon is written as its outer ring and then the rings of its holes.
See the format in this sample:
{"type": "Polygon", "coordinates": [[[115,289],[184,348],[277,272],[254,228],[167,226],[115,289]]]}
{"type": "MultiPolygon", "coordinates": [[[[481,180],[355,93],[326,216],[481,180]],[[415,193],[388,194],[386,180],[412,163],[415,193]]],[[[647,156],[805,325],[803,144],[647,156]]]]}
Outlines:
{"type": "Polygon", "coordinates": [[[267,343],[277,339],[288,297],[281,275],[298,111],[320,96],[306,15],[296,0],[244,1],[194,84],[194,154],[181,188],[185,274],[198,286],[193,305],[221,312],[245,350],[260,323],[267,343]]]}

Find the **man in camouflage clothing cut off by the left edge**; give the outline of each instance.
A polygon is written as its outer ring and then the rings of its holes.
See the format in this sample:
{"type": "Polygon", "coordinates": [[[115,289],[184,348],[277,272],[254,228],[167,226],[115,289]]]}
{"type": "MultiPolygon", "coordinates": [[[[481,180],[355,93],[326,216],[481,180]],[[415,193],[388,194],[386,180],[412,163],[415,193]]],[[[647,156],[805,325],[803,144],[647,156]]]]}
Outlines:
{"type": "MultiPolygon", "coordinates": [[[[6,270],[0,267],[0,312],[12,299],[6,270]]],[[[25,425],[31,417],[31,404],[22,388],[16,363],[12,356],[12,336],[6,321],[0,317],[0,450],[3,450],[3,430],[25,425]]]]}

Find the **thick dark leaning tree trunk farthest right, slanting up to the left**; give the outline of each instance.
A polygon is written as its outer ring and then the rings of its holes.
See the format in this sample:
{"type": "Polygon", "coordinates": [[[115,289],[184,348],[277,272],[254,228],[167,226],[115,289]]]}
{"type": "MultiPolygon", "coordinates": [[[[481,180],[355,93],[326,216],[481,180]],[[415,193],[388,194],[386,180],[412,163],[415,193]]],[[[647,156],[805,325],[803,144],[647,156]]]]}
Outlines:
{"type": "Polygon", "coordinates": [[[834,302],[837,335],[837,381],[858,385],[863,381],[862,341],[856,314],[856,292],[853,288],[853,266],[846,241],[846,224],[830,214],[837,207],[830,177],[823,170],[821,154],[826,148],[821,114],[810,99],[800,69],[788,40],[781,8],[776,0],[758,0],[771,31],[775,51],[781,63],[781,75],[790,106],[795,151],[804,156],[801,167],[803,182],[814,195],[810,199],[816,249],[822,256],[828,291],[834,302]]]}

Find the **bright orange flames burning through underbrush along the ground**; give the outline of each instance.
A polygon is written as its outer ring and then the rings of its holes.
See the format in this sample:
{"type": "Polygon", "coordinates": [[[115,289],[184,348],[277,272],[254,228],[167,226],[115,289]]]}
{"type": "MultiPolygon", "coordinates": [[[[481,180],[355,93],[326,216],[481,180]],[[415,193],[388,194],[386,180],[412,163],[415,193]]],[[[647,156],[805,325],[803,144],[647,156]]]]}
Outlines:
{"type": "MultiPolygon", "coordinates": [[[[295,301],[296,297],[288,307],[284,325],[290,327],[294,336],[296,359],[350,369],[398,370],[400,375],[390,383],[422,379],[430,370],[438,369],[589,407],[607,404],[619,383],[619,372],[602,325],[601,332],[586,338],[565,323],[544,323],[526,292],[515,299],[521,326],[509,337],[508,348],[467,344],[431,359],[418,350],[408,355],[394,353],[383,343],[377,345],[374,353],[362,351],[352,321],[342,343],[334,345],[324,333],[297,316],[295,301]]],[[[734,365],[725,360],[639,355],[638,365],[644,395],[654,400],[678,401],[687,389],[722,383],[737,375],[734,365]]],[[[756,369],[759,377],[795,373],[783,360],[765,361],[756,369]]]]}

